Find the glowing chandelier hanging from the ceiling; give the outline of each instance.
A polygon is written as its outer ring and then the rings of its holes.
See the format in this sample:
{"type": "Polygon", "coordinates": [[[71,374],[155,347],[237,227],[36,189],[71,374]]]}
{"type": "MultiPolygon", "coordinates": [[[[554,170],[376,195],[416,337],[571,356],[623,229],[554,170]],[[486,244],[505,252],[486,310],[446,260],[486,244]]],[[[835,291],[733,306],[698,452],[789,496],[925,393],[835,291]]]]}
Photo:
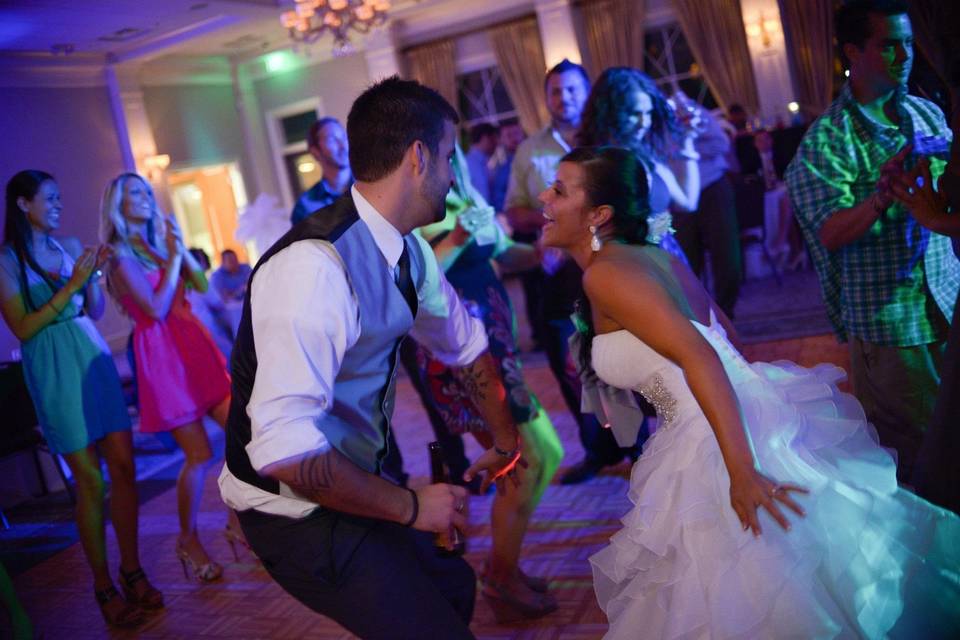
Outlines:
{"type": "Polygon", "coordinates": [[[370,33],[387,21],[389,9],[390,0],[296,0],[293,10],[280,16],[280,23],[295,42],[310,44],[329,32],[334,47],[345,49],[351,29],[370,33]]]}

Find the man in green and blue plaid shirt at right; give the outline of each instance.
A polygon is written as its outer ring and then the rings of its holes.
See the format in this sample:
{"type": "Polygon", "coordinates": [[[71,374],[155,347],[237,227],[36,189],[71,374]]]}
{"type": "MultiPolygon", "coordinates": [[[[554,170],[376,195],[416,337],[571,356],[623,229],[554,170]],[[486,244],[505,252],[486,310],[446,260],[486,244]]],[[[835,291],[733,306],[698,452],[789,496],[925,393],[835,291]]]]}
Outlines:
{"type": "MultiPolygon", "coordinates": [[[[850,81],[810,127],[787,186],[830,320],[850,342],[854,393],[906,479],[933,412],[960,263],[950,240],[895,204],[881,177],[951,135],[939,108],[906,92],[905,2],[853,0],[835,24],[850,81]]],[[[935,178],[943,166],[931,158],[935,178]]]]}

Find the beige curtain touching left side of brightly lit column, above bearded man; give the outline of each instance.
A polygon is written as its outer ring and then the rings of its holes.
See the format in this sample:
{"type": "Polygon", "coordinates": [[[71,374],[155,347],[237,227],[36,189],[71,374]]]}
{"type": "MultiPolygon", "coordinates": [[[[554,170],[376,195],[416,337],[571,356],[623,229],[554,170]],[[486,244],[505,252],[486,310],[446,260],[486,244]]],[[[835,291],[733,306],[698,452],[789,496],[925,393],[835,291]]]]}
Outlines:
{"type": "Polygon", "coordinates": [[[497,56],[500,76],[517,109],[520,126],[528,134],[542,129],[550,121],[550,114],[543,100],[543,77],[547,65],[543,59],[537,19],[525,18],[494,27],[487,33],[497,56]]]}

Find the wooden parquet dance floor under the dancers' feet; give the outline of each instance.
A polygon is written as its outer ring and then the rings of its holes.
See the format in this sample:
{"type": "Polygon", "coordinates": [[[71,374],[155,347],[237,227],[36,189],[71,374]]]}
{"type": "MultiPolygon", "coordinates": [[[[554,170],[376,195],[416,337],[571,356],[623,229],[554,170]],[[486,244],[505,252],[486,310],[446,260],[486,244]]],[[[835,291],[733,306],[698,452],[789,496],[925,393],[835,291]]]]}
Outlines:
{"type": "MultiPolygon", "coordinates": [[[[784,340],[747,347],[750,359],[791,359],[801,364],[834,362],[847,367],[846,348],[830,336],[784,340]]],[[[564,466],[582,457],[573,420],[564,409],[545,360],[534,354],[526,361],[529,384],[550,413],[566,450],[564,466]]],[[[430,428],[415,395],[402,380],[394,420],[412,485],[426,482],[430,428]]],[[[470,452],[478,449],[471,442],[470,452]]],[[[219,469],[219,463],[217,465],[219,469]]],[[[628,510],[625,492],[629,467],[623,463],[582,485],[554,484],[534,514],[523,554],[523,567],[550,578],[559,609],[540,620],[497,626],[493,614],[478,599],[471,628],[483,639],[599,638],[606,624],[596,605],[588,558],[618,529],[628,510]]],[[[170,488],[144,504],[141,548],[147,574],[166,598],[166,609],[139,629],[113,631],[104,624],[90,586],[90,571],[79,544],[21,573],[14,583],[37,630],[44,638],[291,638],[320,640],[351,638],[336,623],[319,616],[284,593],[247,552],[235,560],[222,537],[226,514],[216,488],[216,473],[207,479],[200,513],[200,530],[211,555],[224,564],[221,581],[199,585],[185,580],[174,556],[177,537],[176,496],[170,488]]],[[[491,498],[473,498],[467,560],[479,569],[490,545],[488,513],[491,498]]],[[[112,530],[108,532],[110,563],[117,566],[112,530]]],[[[115,569],[114,569],[115,570],[115,569]]],[[[398,585],[399,587],[399,585],[398,585]]],[[[2,614],[0,614],[2,616],[2,614]]],[[[2,619],[2,617],[0,617],[2,619]]],[[[0,636],[3,631],[0,631],[0,636]]],[[[441,640],[441,639],[437,639],[441,640]]]]}

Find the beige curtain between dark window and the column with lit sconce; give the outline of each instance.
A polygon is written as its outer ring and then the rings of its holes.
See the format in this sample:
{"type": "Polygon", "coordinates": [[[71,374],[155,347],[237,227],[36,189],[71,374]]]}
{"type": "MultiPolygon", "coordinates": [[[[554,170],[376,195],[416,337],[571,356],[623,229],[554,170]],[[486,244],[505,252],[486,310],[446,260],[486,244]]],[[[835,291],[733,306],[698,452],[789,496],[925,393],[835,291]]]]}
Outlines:
{"type": "Polygon", "coordinates": [[[760,110],[739,0],[673,0],[680,26],[710,90],[726,110],[760,110]]]}

